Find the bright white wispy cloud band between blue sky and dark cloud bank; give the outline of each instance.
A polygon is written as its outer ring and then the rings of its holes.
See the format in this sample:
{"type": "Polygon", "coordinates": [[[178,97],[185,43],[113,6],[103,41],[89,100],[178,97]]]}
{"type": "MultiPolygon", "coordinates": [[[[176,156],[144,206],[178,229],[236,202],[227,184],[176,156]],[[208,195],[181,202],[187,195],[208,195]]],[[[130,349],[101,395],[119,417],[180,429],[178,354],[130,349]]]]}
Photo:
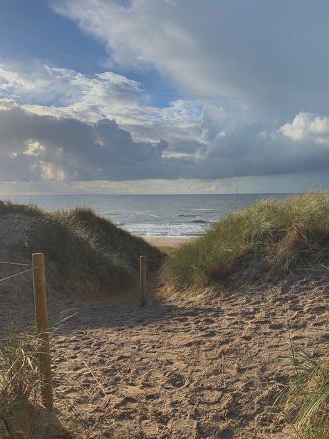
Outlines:
{"type": "MultiPolygon", "coordinates": [[[[203,141],[199,126],[201,106],[197,101],[180,99],[165,108],[142,105],[140,100],[147,99],[140,83],[113,72],[86,76],[44,65],[29,73],[22,68],[22,72],[33,89],[17,85],[17,101],[35,115],[72,117],[87,123],[103,117],[115,119],[136,141],[158,142],[166,138],[171,149],[182,148],[185,152],[195,151],[203,141]]],[[[7,66],[6,75],[11,73],[7,66]]],[[[6,95],[15,96],[12,90],[6,90],[6,95]]],[[[10,108],[10,100],[1,102],[1,108],[10,108]]]]}

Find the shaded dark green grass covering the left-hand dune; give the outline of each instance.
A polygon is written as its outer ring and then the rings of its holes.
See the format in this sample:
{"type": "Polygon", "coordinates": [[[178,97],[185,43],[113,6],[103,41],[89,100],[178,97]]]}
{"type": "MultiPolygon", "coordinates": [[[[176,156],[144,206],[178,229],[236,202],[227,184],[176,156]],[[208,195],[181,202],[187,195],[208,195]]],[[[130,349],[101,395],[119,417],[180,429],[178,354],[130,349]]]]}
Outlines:
{"type": "MultiPolygon", "coordinates": [[[[120,290],[137,281],[140,256],[156,270],[164,257],[142,238],[119,229],[89,208],[47,212],[33,205],[0,200],[0,215],[20,214],[33,218],[27,246],[20,246],[31,257],[43,252],[53,260],[62,281],[89,283],[94,290],[120,290]]],[[[82,287],[83,288],[83,287],[82,287]]]]}

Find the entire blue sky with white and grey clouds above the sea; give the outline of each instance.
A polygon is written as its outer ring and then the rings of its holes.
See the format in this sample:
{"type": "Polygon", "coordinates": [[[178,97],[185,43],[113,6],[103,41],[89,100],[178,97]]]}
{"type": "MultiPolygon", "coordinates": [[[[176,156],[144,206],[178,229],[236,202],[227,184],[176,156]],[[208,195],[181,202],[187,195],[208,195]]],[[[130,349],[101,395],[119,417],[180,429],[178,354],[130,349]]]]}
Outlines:
{"type": "Polygon", "coordinates": [[[0,0],[0,194],[329,188],[327,0],[0,0]]]}

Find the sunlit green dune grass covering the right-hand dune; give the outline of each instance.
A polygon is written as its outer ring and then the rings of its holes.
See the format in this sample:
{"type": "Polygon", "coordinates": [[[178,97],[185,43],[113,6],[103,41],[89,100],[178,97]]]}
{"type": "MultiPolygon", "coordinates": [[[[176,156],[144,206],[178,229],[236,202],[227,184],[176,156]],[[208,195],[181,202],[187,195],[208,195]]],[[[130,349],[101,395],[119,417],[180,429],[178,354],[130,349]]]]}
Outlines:
{"type": "Polygon", "coordinates": [[[329,194],[318,190],[285,201],[267,199],[228,215],[167,260],[163,277],[176,290],[221,281],[248,260],[278,274],[329,258],[329,194]]]}

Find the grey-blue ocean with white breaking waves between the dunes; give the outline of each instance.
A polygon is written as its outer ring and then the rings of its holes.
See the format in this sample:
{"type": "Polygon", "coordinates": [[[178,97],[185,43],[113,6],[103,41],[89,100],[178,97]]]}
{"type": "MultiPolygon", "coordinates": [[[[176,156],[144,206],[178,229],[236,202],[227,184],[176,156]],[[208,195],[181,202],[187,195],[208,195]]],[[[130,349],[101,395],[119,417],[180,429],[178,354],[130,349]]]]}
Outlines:
{"type": "Polygon", "coordinates": [[[135,235],[201,235],[212,222],[260,199],[289,194],[51,195],[1,197],[47,210],[88,206],[135,235]]]}

